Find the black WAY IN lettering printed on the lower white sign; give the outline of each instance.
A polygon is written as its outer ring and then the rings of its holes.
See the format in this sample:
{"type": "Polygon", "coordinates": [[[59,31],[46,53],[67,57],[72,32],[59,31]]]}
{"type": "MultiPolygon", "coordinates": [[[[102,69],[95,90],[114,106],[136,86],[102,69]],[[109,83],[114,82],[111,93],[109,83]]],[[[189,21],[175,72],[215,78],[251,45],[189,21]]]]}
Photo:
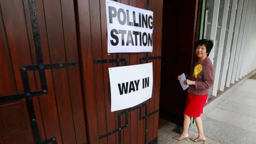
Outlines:
{"type": "MultiPolygon", "coordinates": [[[[131,82],[125,82],[125,83],[120,83],[118,84],[118,89],[120,95],[139,91],[140,87],[140,79],[137,81],[131,81],[131,82]]],[[[146,87],[149,87],[149,77],[147,78],[142,78],[142,89],[145,89],[146,87]]]]}

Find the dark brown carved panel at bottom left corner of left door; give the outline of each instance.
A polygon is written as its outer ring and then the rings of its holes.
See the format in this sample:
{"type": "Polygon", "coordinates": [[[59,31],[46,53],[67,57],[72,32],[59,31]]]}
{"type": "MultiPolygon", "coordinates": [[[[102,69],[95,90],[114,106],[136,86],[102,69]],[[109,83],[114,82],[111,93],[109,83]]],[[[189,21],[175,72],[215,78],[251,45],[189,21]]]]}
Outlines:
{"type": "Polygon", "coordinates": [[[0,106],[1,144],[34,143],[25,101],[0,106]]]}

